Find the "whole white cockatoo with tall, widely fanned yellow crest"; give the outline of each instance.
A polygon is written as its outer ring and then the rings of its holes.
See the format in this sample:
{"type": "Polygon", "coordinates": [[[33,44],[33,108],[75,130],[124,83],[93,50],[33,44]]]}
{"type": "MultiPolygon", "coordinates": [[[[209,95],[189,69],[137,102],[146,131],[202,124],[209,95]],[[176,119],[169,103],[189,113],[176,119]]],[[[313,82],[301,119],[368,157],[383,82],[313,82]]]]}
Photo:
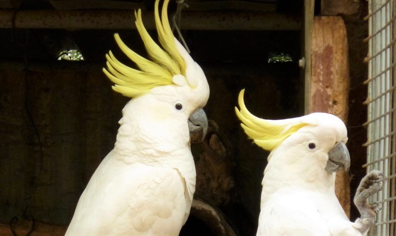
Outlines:
{"type": "Polygon", "coordinates": [[[119,62],[110,51],[103,69],[113,89],[132,99],[122,110],[114,149],[103,159],[82,193],[66,235],[178,235],[195,191],[190,134],[205,136],[202,110],[209,85],[201,67],[175,39],[165,0],[155,1],[157,45],[136,27],[151,60],[121,50],[138,67],[119,62]]]}

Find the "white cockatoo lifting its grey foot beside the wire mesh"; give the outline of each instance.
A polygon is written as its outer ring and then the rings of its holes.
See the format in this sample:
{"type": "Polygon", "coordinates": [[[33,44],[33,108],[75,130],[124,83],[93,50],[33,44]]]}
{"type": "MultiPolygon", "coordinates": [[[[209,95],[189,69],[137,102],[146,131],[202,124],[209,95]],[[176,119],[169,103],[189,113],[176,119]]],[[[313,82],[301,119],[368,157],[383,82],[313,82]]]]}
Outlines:
{"type": "Polygon", "coordinates": [[[381,190],[382,173],[370,172],[354,202],[362,217],[350,222],[335,195],[335,172],[348,170],[347,129],[334,115],[312,113],[284,120],[251,114],[238,98],[242,128],[264,150],[271,151],[264,170],[257,235],[366,235],[380,207],[367,198],[381,190]]]}

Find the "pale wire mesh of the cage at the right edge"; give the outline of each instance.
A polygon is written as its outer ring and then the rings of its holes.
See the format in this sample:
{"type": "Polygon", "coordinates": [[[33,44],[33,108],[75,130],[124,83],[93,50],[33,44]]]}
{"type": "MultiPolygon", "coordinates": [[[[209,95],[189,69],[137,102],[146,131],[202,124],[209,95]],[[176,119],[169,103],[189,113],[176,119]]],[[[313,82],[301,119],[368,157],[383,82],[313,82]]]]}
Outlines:
{"type": "Polygon", "coordinates": [[[367,172],[384,173],[383,190],[369,202],[378,202],[382,210],[369,235],[396,235],[396,0],[369,0],[367,172]]]}

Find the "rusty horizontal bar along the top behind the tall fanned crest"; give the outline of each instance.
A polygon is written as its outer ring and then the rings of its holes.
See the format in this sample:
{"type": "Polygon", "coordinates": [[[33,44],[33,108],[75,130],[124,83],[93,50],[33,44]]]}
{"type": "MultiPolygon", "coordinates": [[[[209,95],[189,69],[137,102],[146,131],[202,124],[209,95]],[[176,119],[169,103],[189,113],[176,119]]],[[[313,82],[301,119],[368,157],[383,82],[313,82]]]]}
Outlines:
{"type": "MultiPolygon", "coordinates": [[[[143,11],[147,29],[155,29],[152,11],[143,11]]],[[[128,10],[0,10],[0,28],[132,29],[128,10]]],[[[182,29],[190,30],[300,30],[299,17],[275,12],[185,11],[182,29]]]]}

